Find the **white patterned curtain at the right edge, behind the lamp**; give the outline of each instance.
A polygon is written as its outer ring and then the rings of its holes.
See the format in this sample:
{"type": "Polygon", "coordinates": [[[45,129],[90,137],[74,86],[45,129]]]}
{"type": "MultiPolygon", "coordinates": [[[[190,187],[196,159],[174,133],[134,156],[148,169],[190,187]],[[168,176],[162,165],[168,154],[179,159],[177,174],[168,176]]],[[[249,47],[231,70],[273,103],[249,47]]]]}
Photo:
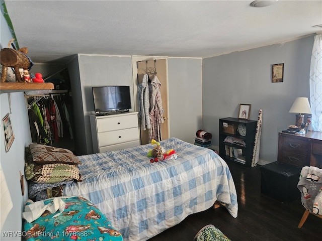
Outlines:
{"type": "Polygon", "coordinates": [[[313,131],[322,132],[322,35],[314,36],[310,65],[310,104],[313,131]]]}

